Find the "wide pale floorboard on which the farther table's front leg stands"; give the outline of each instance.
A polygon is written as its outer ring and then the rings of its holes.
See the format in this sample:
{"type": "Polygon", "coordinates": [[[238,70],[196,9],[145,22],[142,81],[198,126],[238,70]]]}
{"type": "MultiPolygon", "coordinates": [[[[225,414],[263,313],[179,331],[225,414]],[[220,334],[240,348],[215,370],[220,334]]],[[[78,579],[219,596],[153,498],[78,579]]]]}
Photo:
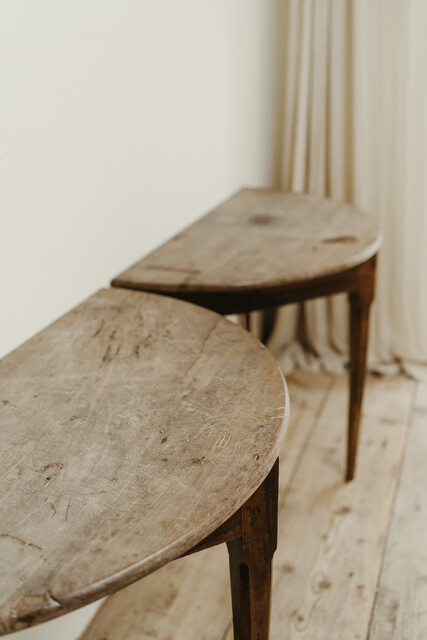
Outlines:
{"type": "Polygon", "coordinates": [[[347,385],[337,380],[281,496],[273,640],[366,638],[412,390],[409,380],[370,378],[357,477],[344,484],[347,385]]]}

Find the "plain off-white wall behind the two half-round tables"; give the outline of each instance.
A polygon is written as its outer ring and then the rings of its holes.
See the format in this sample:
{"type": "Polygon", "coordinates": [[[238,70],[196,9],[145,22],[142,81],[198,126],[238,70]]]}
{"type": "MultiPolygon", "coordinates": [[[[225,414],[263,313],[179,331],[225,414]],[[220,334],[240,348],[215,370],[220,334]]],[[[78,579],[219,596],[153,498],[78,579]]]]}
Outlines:
{"type": "MultiPolygon", "coordinates": [[[[2,0],[0,355],[276,179],[280,4],[2,0]]],[[[22,638],[75,638],[82,615],[22,638]]]]}

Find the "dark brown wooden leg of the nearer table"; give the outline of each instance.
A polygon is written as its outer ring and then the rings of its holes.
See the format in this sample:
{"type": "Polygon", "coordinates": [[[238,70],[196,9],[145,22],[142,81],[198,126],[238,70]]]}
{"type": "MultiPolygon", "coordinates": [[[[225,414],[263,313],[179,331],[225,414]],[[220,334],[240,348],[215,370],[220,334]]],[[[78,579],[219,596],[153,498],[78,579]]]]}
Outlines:
{"type": "Polygon", "coordinates": [[[267,640],[271,568],[277,546],[278,461],[241,508],[242,535],[227,542],[234,640],[267,640]]]}

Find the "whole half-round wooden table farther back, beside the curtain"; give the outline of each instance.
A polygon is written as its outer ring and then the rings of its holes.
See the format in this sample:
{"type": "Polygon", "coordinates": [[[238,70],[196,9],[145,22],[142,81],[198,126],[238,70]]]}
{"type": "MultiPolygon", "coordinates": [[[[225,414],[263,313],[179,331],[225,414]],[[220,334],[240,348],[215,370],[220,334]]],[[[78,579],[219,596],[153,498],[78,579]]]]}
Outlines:
{"type": "Polygon", "coordinates": [[[346,480],[354,477],[375,255],[372,218],[307,194],[243,189],[117,276],[219,313],[246,314],[334,293],[350,298],[351,380],[346,480]]]}

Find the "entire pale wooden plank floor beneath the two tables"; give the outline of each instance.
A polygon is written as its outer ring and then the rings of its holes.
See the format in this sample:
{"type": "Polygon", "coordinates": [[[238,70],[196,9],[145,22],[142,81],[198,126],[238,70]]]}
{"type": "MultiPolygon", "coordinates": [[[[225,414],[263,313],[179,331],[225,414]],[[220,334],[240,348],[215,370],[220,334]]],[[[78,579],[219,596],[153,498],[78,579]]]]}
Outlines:
{"type": "MultiPolygon", "coordinates": [[[[427,639],[427,384],[369,377],[357,479],[347,380],[294,374],[281,453],[272,640],[427,639]]],[[[84,640],[231,640],[225,545],[106,601],[84,640]]]]}

